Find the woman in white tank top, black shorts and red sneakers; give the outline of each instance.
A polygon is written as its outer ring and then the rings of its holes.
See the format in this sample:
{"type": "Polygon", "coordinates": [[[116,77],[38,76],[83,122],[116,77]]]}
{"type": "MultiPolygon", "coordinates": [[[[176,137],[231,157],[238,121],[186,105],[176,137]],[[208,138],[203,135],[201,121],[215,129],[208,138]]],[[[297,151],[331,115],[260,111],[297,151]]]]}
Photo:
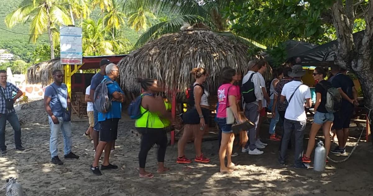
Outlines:
{"type": "MultiPolygon", "coordinates": [[[[178,142],[178,158],[176,163],[188,164],[192,161],[187,159],[184,155],[185,145],[194,135],[194,148],[195,148],[195,162],[208,163],[209,158],[203,156],[201,145],[202,137],[207,128],[207,123],[210,115],[209,109],[209,92],[203,86],[207,79],[207,72],[204,68],[194,68],[191,74],[195,78],[195,83],[192,86],[193,94],[189,96],[194,97],[194,107],[189,107],[188,111],[183,115],[184,133],[178,142]]],[[[190,99],[190,98],[189,98],[190,99]]],[[[193,103],[191,103],[193,104],[193,103]]]]}

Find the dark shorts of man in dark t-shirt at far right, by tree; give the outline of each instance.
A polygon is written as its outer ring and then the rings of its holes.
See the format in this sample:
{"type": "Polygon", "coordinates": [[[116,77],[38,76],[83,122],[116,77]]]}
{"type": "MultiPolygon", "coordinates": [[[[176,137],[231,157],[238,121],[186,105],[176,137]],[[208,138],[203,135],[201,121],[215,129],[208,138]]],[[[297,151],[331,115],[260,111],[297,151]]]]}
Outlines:
{"type": "Polygon", "coordinates": [[[334,113],[333,128],[335,130],[341,130],[350,128],[351,116],[354,112],[354,106],[345,105],[338,112],[334,113]]]}

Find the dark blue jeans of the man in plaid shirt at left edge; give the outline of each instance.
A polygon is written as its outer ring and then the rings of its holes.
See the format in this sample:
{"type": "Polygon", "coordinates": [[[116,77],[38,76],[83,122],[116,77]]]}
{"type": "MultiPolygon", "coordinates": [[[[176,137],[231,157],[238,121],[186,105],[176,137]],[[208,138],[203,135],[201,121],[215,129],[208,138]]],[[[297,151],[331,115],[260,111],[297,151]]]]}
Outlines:
{"type": "Polygon", "coordinates": [[[21,146],[21,125],[18,121],[18,116],[16,112],[2,113],[0,114],[0,148],[1,150],[6,150],[5,146],[5,125],[6,121],[9,121],[14,130],[14,143],[17,146],[21,146]]]}

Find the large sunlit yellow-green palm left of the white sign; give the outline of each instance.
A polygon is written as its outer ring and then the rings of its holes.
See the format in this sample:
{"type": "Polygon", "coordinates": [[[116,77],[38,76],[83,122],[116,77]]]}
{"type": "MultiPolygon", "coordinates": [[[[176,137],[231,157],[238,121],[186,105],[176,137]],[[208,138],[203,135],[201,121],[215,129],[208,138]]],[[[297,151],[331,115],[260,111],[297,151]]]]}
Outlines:
{"type": "Polygon", "coordinates": [[[51,48],[50,57],[54,59],[53,29],[72,24],[66,7],[59,3],[65,1],[23,0],[18,9],[6,16],[5,23],[8,28],[12,28],[18,23],[31,22],[29,42],[32,43],[36,43],[37,38],[47,32],[51,48]]]}

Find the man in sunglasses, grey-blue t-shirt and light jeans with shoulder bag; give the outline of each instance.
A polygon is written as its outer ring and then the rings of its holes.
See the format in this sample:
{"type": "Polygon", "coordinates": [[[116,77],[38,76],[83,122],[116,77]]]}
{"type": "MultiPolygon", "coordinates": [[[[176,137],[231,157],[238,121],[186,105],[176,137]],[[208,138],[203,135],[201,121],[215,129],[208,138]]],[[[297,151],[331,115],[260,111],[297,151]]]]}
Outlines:
{"type": "Polygon", "coordinates": [[[54,83],[46,88],[44,93],[44,108],[48,113],[50,125],[49,150],[51,162],[63,165],[58,157],[58,134],[62,131],[65,159],[78,159],[79,156],[71,152],[71,121],[63,118],[63,114],[71,111],[70,97],[66,84],[63,84],[63,73],[60,70],[53,71],[54,83]]]}

